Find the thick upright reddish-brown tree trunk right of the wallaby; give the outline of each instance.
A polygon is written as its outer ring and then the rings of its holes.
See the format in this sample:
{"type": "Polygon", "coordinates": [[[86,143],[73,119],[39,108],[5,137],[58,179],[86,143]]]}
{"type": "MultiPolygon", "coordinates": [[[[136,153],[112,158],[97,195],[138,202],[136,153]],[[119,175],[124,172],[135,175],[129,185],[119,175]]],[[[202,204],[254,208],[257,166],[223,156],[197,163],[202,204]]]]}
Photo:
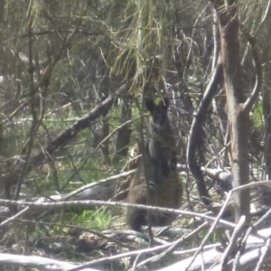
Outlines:
{"type": "MultiPolygon", "coordinates": [[[[248,167],[248,135],[249,111],[243,110],[245,102],[240,76],[239,57],[239,22],[237,3],[217,6],[220,16],[220,39],[224,80],[228,102],[229,129],[231,138],[232,172],[234,187],[249,182],[248,167]]],[[[250,192],[248,189],[234,193],[235,220],[238,222],[241,215],[245,215],[249,222],[250,192]]]]}

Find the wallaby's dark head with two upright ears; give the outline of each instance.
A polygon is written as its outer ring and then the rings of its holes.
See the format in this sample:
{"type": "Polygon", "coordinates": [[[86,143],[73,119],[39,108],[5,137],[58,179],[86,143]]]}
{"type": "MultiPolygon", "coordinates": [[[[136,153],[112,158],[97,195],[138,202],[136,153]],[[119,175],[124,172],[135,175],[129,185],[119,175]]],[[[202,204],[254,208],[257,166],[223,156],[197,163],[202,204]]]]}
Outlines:
{"type": "Polygon", "coordinates": [[[158,105],[152,99],[146,99],[145,107],[151,114],[150,126],[152,126],[151,128],[154,131],[162,130],[169,125],[167,117],[167,109],[169,107],[168,98],[163,98],[158,105]]]}

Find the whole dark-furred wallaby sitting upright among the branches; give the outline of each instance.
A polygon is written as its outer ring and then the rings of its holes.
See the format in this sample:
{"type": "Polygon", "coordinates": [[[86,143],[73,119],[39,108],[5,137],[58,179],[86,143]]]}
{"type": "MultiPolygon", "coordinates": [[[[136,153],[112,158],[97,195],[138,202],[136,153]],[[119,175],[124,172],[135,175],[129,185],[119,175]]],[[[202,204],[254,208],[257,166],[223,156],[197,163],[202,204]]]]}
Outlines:
{"type": "MultiPolygon", "coordinates": [[[[145,107],[150,113],[145,164],[141,159],[127,199],[129,203],[147,203],[146,177],[150,186],[149,204],[176,209],[180,207],[182,201],[182,183],[176,171],[174,137],[167,116],[169,100],[164,98],[159,105],[155,105],[154,101],[147,99],[145,107]]],[[[174,216],[152,212],[150,219],[153,226],[164,226],[171,223],[174,216]]],[[[126,222],[131,229],[138,230],[141,226],[147,225],[147,212],[130,208],[127,211],[126,222]]]]}

